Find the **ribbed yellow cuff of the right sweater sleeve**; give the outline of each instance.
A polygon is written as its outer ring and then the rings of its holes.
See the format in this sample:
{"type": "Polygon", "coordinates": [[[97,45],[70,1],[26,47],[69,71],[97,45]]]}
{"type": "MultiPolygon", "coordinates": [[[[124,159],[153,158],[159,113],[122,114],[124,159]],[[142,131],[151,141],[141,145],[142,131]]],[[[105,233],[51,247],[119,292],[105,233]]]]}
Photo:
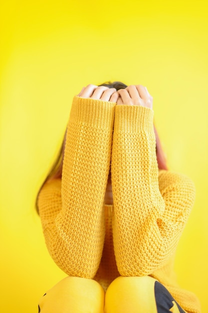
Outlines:
{"type": "Polygon", "coordinates": [[[114,131],[154,131],[153,109],[141,105],[116,105],[114,131]]]}

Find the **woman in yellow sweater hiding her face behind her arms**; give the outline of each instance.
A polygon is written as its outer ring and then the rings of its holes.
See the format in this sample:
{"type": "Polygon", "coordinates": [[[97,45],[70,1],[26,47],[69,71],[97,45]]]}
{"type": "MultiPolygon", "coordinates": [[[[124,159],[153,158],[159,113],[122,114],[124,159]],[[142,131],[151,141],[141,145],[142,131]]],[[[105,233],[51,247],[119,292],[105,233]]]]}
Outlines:
{"type": "Polygon", "coordinates": [[[200,312],[181,289],[175,250],[195,186],[167,169],[142,85],[88,85],[74,96],[60,162],[37,198],[45,241],[67,273],[41,313],[200,312]]]}

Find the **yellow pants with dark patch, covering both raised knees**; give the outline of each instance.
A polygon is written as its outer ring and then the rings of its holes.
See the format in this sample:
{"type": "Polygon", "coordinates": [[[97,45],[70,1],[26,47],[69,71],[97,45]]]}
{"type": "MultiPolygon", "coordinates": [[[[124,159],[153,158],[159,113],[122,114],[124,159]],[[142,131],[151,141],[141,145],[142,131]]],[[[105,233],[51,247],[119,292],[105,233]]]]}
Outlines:
{"type": "Polygon", "coordinates": [[[41,297],[38,311],[39,313],[185,312],[168,290],[150,276],[119,276],[110,284],[106,293],[93,279],[69,276],[59,281],[41,297]]]}

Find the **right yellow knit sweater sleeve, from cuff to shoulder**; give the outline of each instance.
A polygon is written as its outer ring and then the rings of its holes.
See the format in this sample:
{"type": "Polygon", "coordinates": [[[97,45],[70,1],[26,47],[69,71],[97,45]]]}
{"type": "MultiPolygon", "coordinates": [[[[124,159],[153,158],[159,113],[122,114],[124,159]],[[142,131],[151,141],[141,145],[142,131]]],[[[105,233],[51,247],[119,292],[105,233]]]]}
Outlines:
{"type": "Polygon", "coordinates": [[[195,200],[190,178],[158,169],[151,108],[117,105],[112,146],[113,240],[124,276],[151,274],[173,254],[195,200]]]}

